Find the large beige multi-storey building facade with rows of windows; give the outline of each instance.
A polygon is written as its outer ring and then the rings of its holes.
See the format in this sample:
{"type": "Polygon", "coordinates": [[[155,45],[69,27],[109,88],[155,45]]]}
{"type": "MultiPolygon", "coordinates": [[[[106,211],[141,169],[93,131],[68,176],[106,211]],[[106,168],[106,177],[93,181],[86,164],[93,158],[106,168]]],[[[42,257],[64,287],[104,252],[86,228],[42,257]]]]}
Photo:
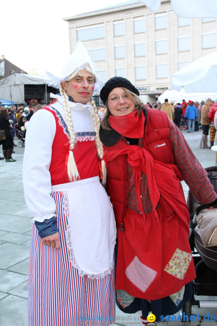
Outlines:
{"type": "Polygon", "coordinates": [[[144,102],[171,89],[171,74],[217,50],[217,20],[180,18],[168,0],[157,13],[131,0],[64,20],[71,53],[82,41],[104,82],[125,77],[144,102]]]}

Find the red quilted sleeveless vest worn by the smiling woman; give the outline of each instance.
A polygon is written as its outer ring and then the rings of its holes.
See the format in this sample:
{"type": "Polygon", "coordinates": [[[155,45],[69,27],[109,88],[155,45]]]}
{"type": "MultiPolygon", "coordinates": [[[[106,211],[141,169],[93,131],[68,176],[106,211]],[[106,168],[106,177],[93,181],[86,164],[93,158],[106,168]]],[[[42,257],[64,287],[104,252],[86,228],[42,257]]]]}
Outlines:
{"type": "MultiPolygon", "coordinates": [[[[168,116],[156,109],[147,110],[147,124],[144,127],[143,147],[157,161],[174,164],[174,155],[170,144],[170,124],[168,116]]],[[[113,146],[112,146],[113,147],[113,146]]],[[[104,146],[105,151],[112,147],[104,146]]],[[[113,204],[117,226],[122,223],[127,211],[129,193],[129,173],[127,155],[118,155],[108,162],[107,193],[113,204]]]]}

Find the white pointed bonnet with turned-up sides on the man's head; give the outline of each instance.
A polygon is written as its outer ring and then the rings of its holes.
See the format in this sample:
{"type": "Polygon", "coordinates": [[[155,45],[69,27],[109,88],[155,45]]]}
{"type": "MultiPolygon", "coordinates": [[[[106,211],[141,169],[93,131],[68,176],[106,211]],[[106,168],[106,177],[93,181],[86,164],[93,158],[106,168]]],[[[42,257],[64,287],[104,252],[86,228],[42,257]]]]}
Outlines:
{"type": "Polygon", "coordinates": [[[62,68],[60,76],[54,76],[51,72],[46,71],[49,79],[46,79],[45,82],[48,86],[53,86],[59,89],[61,82],[67,80],[76,69],[82,70],[84,68],[84,64],[86,63],[88,63],[92,72],[96,76],[93,95],[99,94],[102,87],[104,86],[104,82],[102,82],[100,77],[96,74],[94,63],[90,59],[90,56],[81,41],[77,42],[74,52],[70,55],[62,68]]]}

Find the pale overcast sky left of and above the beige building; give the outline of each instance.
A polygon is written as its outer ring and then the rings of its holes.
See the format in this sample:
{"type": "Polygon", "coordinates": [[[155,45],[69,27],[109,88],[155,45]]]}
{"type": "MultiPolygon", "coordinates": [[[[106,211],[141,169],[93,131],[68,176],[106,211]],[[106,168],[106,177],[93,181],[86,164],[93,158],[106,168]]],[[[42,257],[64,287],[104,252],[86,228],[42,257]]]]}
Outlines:
{"type": "Polygon", "coordinates": [[[68,22],[62,18],[107,6],[102,0],[2,1],[0,54],[28,73],[59,71],[69,56],[68,22]]]}

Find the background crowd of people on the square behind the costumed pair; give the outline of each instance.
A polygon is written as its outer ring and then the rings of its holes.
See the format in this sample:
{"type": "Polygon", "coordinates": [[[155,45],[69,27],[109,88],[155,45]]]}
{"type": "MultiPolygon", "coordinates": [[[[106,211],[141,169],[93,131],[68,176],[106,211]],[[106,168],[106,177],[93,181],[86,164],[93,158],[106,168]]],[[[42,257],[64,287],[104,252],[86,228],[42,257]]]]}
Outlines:
{"type": "MultiPolygon", "coordinates": [[[[54,103],[56,102],[56,99],[52,99],[50,102],[54,103]]],[[[7,134],[9,135],[7,137],[7,141],[2,142],[4,147],[4,157],[0,157],[0,160],[5,158],[6,162],[16,161],[11,156],[12,153],[15,153],[14,146],[16,146],[14,141],[12,145],[12,142],[10,141],[11,137],[14,140],[14,136],[16,134],[16,136],[20,138],[21,136],[19,131],[26,131],[32,115],[43,107],[46,107],[47,102],[41,101],[40,104],[38,104],[37,100],[31,99],[29,101],[29,105],[30,106],[21,105],[18,108],[16,105],[12,105],[11,108],[8,108],[6,105],[3,108],[5,108],[7,111],[4,112],[3,109],[0,111],[0,115],[5,115],[6,117],[6,126],[4,123],[2,125],[2,129],[6,128],[7,134]]],[[[217,98],[215,101],[208,98],[205,101],[202,100],[200,103],[197,101],[193,102],[191,100],[186,102],[184,99],[182,100],[182,103],[175,101],[170,101],[169,103],[168,99],[166,98],[163,104],[161,104],[160,101],[156,101],[156,103],[147,102],[146,106],[148,108],[154,108],[156,110],[166,112],[170,120],[172,120],[180,130],[195,132],[199,131],[199,128],[202,129],[203,133],[199,141],[200,148],[211,149],[211,147],[214,145],[217,127],[217,115],[216,124],[214,124],[214,117],[217,111],[217,98]],[[209,130],[210,146],[208,145],[209,130]]],[[[105,115],[107,108],[104,106],[104,104],[101,104],[97,107],[97,109],[100,121],[102,122],[102,118],[105,115]]],[[[1,118],[1,120],[2,119],[3,118],[1,118]]]]}

